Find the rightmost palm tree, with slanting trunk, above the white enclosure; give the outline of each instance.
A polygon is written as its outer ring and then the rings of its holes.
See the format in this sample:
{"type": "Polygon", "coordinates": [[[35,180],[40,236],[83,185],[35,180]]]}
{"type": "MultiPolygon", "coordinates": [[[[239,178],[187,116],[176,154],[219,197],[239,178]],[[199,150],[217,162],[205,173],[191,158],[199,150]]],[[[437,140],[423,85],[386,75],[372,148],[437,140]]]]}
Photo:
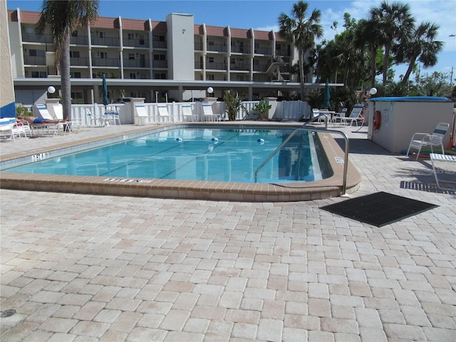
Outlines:
{"type": "MultiPolygon", "coordinates": [[[[415,68],[415,62],[423,63],[423,68],[435,66],[437,64],[437,53],[442,51],[443,42],[436,41],[440,26],[430,22],[423,22],[418,27],[413,28],[412,34],[407,41],[399,46],[398,57],[408,61],[408,69],[402,79],[405,84],[415,68]]],[[[399,59],[402,60],[402,59],[399,59]]]]}

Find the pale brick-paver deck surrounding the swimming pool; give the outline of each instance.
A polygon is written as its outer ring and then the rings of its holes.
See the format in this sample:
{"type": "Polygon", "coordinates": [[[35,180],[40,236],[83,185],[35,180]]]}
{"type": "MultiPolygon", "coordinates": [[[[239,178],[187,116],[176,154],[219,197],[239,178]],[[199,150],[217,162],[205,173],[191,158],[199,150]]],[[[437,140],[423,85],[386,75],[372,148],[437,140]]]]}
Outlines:
{"type": "MultiPolygon", "coordinates": [[[[128,132],[0,142],[2,157],[128,132]]],[[[430,161],[341,128],[385,191],[439,205],[385,227],[306,202],[0,190],[1,341],[455,341],[456,195],[430,161]]]]}

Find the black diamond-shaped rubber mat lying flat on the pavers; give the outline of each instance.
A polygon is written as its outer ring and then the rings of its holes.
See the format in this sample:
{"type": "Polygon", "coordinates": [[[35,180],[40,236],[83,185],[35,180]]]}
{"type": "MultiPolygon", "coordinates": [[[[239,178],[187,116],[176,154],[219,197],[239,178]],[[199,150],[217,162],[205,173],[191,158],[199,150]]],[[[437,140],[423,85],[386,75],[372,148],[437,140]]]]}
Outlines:
{"type": "Polygon", "coordinates": [[[388,194],[388,192],[376,192],[375,194],[329,204],[320,209],[372,224],[375,227],[383,227],[386,224],[400,221],[435,207],[438,206],[416,199],[388,194]]]}

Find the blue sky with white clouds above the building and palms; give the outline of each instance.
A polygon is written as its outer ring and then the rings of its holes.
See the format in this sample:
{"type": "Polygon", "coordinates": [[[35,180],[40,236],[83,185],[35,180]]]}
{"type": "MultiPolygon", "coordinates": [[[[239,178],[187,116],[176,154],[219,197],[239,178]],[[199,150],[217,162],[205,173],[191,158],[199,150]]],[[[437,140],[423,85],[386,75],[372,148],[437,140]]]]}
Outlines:
{"type": "MultiPolygon", "coordinates": [[[[297,0],[296,0],[297,1],[297,0]]],[[[100,0],[100,16],[127,19],[152,19],[165,21],[167,14],[193,14],[195,24],[214,26],[230,26],[232,28],[254,28],[258,30],[277,31],[277,18],[281,12],[290,14],[296,1],[288,0],[211,0],[211,1],[174,1],[174,0],[100,0]]],[[[368,18],[372,6],[378,6],[380,0],[364,1],[307,1],[309,13],[320,9],[323,38],[331,39],[336,31],[331,29],[333,21],[338,21],[338,31],[342,31],[343,14],[348,12],[353,19],[368,18]]],[[[409,0],[411,12],[417,24],[421,21],[431,21],[440,25],[438,40],[445,43],[444,51],[438,56],[438,63],[432,68],[422,70],[423,73],[440,71],[453,73],[453,84],[456,78],[456,1],[455,0],[409,0]]],[[[8,9],[20,8],[27,11],[41,11],[41,0],[6,0],[8,9]]],[[[405,73],[407,66],[396,67],[396,79],[405,73]]]]}

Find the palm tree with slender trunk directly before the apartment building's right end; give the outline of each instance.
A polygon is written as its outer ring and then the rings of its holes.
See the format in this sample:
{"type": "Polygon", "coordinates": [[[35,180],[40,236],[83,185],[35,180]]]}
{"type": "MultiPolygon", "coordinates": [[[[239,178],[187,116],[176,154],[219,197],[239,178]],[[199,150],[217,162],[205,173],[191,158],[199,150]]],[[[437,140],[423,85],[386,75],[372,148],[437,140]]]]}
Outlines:
{"type": "Polygon", "coordinates": [[[323,36],[320,24],[321,11],[314,9],[311,16],[306,18],[309,7],[304,1],[299,0],[293,5],[291,16],[282,12],[279,16],[279,36],[292,43],[298,49],[299,76],[301,81],[301,100],[304,100],[304,56],[306,51],[313,48],[315,38],[323,36]]]}

